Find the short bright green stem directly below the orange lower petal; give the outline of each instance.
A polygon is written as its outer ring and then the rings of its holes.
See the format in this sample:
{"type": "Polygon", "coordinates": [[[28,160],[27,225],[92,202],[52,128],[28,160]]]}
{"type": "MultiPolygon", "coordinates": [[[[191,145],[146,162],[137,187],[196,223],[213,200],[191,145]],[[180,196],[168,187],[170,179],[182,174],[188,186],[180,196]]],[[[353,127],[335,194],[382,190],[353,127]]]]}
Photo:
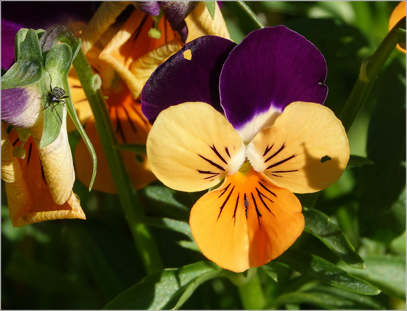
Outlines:
{"type": "Polygon", "coordinates": [[[238,287],[240,299],[245,310],[262,310],[266,304],[266,298],[258,278],[257,268],[250,268],[247,276],[252,274],[246,283],[238,287]]]}

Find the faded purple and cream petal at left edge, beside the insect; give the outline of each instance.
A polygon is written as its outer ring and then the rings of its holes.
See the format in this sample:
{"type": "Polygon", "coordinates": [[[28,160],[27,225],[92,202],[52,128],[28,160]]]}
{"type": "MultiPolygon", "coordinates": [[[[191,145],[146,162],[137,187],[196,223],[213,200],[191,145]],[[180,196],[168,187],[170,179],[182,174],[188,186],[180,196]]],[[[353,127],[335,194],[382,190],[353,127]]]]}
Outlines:
{"type": "Polygon", "coordinates": [[[1,90],[1,120],[4,123],[30,128],[37,124],[42,112],[38,84],[1,90]]]}

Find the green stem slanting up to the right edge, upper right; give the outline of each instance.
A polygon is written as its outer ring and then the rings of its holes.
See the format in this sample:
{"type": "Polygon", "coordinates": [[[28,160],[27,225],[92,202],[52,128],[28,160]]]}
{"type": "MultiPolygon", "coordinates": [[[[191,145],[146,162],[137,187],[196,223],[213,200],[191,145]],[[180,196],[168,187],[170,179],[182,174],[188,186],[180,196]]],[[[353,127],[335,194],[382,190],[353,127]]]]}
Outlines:
{"type": "Polygon", "coordinates": [[[374,54],[363,60],[359,77],[339,116],[346,132],[349,131],[350,126],[368,99],[381,68],[400,40],[398,28],[405,28],[405,23],[406,18],[404,17],[389,31],[374,54]]]}

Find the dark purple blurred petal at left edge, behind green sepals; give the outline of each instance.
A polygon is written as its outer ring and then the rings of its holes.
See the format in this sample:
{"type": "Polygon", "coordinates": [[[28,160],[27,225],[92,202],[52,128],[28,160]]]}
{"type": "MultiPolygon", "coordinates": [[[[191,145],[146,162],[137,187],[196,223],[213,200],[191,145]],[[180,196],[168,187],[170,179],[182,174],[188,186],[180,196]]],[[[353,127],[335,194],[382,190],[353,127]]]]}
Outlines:
{"type": "Polygon", "coordinates": [[[1,67],[9,70],[14,63],[14,39],[23,26],[1,19],[1,67]]]}

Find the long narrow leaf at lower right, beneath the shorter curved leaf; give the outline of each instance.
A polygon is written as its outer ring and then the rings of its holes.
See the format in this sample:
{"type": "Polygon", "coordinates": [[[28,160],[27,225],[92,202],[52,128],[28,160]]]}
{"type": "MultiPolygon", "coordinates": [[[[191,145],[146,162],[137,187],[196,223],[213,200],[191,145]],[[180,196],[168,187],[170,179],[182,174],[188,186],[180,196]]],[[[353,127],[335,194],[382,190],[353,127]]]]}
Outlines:
{"type": "MultiPolygon", "coordinates": [[[[337,265],[300,249],[290,248],[275,259],[292,270],[315,278],[324,283],[355,291],[364,295],[377,295],[380,290],[373,285],[351,276],[337,265]]],[[[364,271],[364,270],[357,270],[364,271]]]]}

